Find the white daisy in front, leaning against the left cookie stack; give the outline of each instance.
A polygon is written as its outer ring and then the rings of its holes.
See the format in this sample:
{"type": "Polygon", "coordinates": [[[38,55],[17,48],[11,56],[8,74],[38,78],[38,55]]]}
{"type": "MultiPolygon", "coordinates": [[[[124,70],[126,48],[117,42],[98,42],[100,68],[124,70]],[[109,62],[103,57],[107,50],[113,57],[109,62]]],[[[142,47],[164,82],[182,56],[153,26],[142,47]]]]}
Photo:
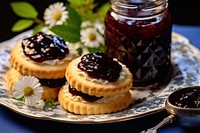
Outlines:
{"type": "Polygon", "coordinates": [[[23,76],[13,85],[13,97],[21,99],[25,105],[35,106],[42,97],[43,88],[39,80],[32,76],[23,76]]]}

